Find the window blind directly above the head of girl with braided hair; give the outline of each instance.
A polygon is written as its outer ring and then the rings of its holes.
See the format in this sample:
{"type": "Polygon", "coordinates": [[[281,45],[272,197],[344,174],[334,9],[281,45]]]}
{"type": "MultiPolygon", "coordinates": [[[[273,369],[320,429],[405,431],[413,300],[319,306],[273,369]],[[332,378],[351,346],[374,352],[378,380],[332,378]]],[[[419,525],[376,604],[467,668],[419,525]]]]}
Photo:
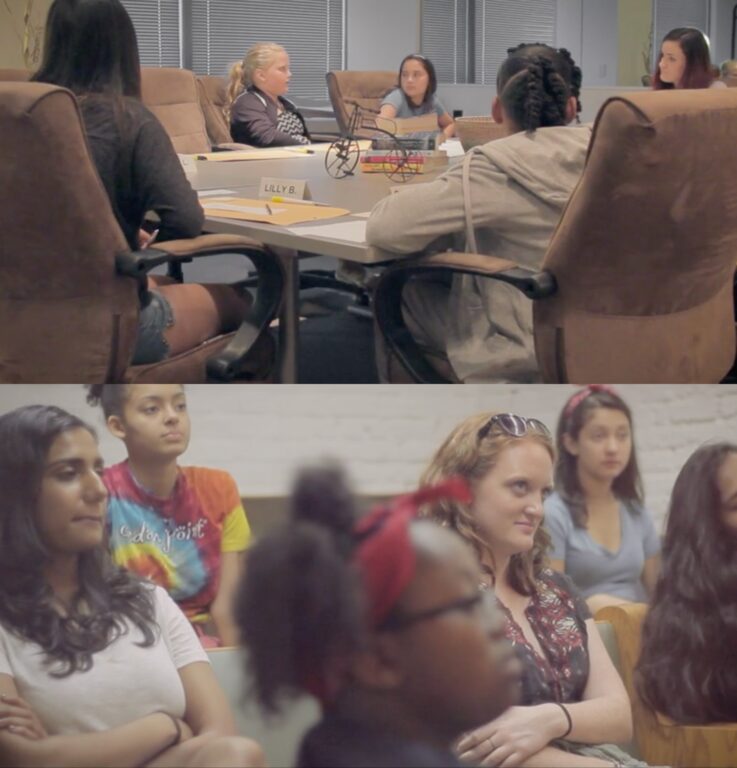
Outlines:
{"type": "Polygon", "coordinates": [[[507,49],[519,43],[555,45],[557,0],[474,0],[476,82],[495,85],[507,49]]]}

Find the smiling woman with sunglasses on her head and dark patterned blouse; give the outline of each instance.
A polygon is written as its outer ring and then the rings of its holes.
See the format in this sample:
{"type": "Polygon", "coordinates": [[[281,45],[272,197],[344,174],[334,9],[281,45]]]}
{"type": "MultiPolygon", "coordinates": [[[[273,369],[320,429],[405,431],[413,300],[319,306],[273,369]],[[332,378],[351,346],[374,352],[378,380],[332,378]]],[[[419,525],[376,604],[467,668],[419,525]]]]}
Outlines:
{"type": "Polygon", "coordinates": [[[520,706],[489,712],[458,751],[473,765],[504,768],[641,765],[608,743],[631,738],[627,693],[586,603],[546,564],[553,455],[542,422],[482,413],[453,430],[422,477],[468,483],[470,502],[436,500],[426,512],[476,553],[478,588],[495,596],[523,668],[520,706]]]}

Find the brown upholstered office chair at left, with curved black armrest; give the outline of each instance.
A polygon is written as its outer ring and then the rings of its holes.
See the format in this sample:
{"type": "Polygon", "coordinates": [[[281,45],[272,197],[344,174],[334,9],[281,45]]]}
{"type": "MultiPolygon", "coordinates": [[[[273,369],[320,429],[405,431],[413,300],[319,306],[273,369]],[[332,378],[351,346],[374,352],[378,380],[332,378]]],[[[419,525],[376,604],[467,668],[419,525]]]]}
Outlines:
{"type": "Polygon", "coordinates": [[[228,379],[247,369],[264,344],[268,353],[266,329],[283,282],[272,254],[247,238],[220,235],[131,253],[70,91],[0,83],[0,146],[8,158],[0,163],[0,189],[8,191],[0,206],[0,381],[228,379]],[[243,254],[259,277],[238,331],[131,367],[139,279],[159,264],[222,252],[243,254]]]}

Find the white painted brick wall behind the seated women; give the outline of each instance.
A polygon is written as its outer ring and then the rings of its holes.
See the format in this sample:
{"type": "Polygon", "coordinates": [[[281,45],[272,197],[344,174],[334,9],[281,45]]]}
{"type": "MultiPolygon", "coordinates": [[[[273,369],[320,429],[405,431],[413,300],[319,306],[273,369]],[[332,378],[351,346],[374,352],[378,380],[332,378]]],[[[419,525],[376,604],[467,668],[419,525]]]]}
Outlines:
{"type": "MultiPolygon", "coordinates": [[[[342,459],[359,490],[413,487],[440,441],[481,410],[535,416],[551,429],[570,386],[409,387],[376,385],[189,386],[192,443],[185,461],[221,467],[244,495],[285,493],[294,469],[321,456],[342,459]]],[[[621,386],[632,407],[647,504],[662,525],[675,476],[707,440],[737,442],[737,387],[621,386]]],[[[123,458],[99,411],[77,385],[2,385],[0,412],[29,403],[66,408],[97,426],[103,455],[123,458]]]]}

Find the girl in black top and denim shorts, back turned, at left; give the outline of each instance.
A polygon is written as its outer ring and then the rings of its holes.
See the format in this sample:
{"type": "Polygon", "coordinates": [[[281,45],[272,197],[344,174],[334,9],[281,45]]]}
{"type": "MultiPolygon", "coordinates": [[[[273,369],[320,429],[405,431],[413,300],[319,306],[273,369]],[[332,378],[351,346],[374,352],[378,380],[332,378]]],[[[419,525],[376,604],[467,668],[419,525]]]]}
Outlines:
{"type": "MultiPolygon", "coordinates": [[[[138,43],[120,0],[54,0],[33,79],[77,96],[92,160],[131,250],[151,240],[141,229],[148,211],[159,216],[159,240],[200,234],[197,195],[164,128],[140,101],[138,43]]],[[[233,330],[248,302],[229,285],[149,279],[132,362],[157,362],[233,330]]]]}

